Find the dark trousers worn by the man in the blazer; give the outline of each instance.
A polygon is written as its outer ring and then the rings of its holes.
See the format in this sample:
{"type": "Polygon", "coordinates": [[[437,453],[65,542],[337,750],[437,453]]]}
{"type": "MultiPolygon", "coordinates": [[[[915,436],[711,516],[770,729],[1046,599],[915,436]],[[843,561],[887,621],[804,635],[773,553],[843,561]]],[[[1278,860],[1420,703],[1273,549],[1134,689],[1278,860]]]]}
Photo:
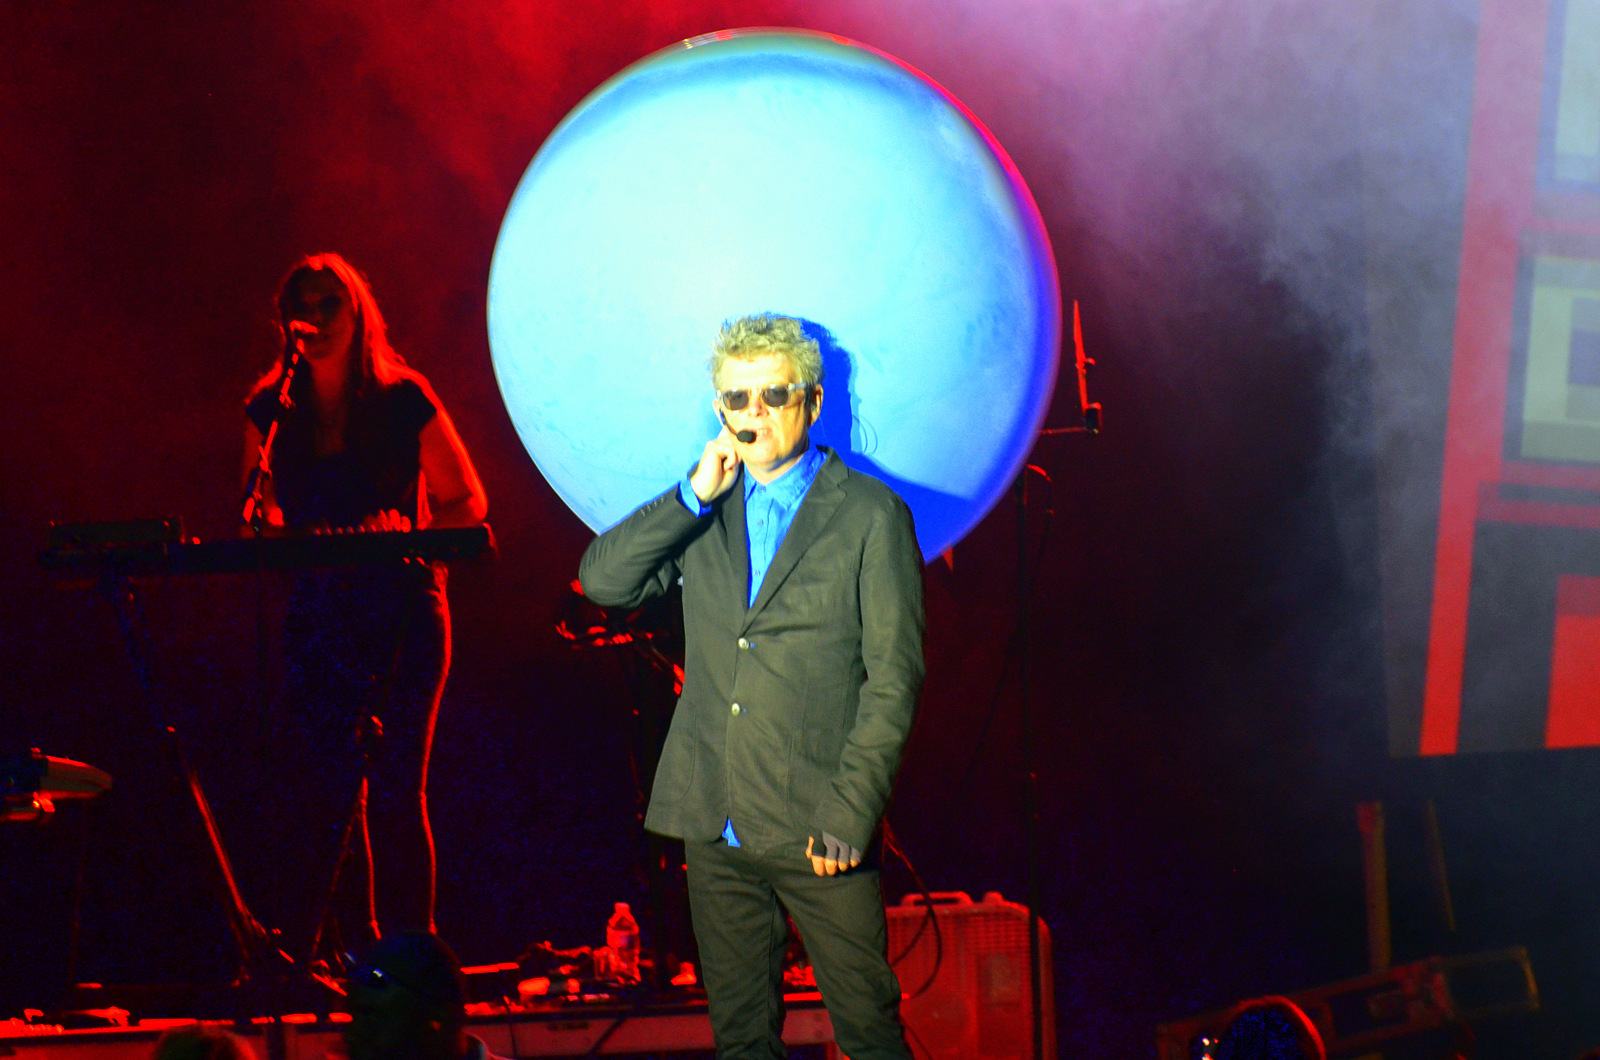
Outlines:
{"type": "Polygon", "coordinates": [[[752,855],[685,842],[690,911],[718,1060],[782,1060],[784,909],[811,956],[834,1041],[851,1060],[909,1060],[878,871],[818,876],[805,847],[752,855]]]}

